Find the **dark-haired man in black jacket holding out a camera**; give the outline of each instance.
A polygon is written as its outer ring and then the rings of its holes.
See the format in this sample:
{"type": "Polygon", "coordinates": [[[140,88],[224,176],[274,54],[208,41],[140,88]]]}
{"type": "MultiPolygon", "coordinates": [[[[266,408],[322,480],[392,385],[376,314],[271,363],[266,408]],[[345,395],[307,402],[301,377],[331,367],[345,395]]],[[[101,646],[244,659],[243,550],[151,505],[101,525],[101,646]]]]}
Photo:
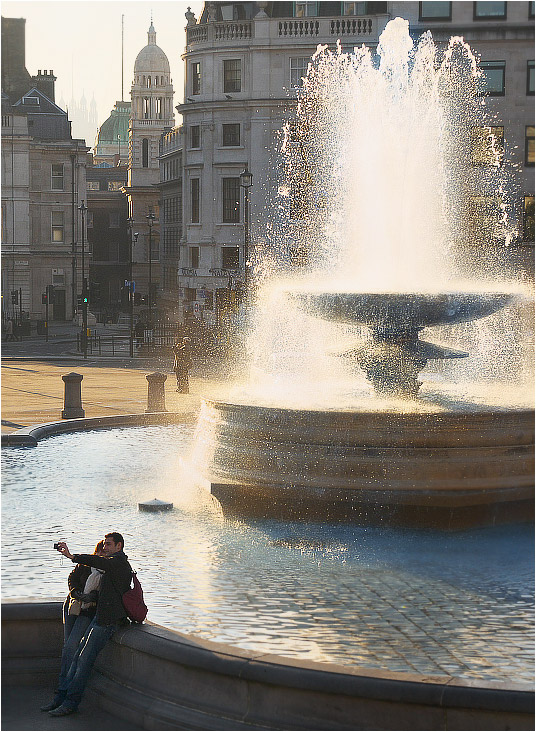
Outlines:
{"type": "Polygon", "coordinates": [[[41,707],[41,711],[48,712],[53,717],[64,717],[76,712],[97,655],[120,625],[128,622],[122,597],[130,587],[132,568],[123,551],[124,544],[121,534],[117,532],[106,534],[104,556],[98,556],[71,554],[65,542],[58,543],[58,551],[64,557],[75,564],[96,567],[103,571],[104,575],[95,617],[80,641],[69,672],[63,680],[60,680],[54,701],[41,707]]]}

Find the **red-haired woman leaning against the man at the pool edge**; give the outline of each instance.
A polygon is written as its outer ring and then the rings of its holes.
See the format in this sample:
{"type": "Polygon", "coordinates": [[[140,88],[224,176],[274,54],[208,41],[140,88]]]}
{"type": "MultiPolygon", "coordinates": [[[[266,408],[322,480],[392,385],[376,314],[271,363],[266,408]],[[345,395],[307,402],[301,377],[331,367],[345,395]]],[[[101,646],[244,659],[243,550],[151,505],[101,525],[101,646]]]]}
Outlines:
{"type": "MultiPolygon", "coordinates": [[[[93,554],[104,557],[104,540],[98,542],[93,554]]],[[[63,605],[63,650],[61,652],[61,668],[59,686],[67,676],[80,641],[84,637],[89,624],[95,617],[97,597],[102,572],[94,567],[77,564],[68,578],[69,594],[63,605]]],[[[51,704],[41,707],[42,712],[55,709],[60,703],[56,697],[51,704]]]]}

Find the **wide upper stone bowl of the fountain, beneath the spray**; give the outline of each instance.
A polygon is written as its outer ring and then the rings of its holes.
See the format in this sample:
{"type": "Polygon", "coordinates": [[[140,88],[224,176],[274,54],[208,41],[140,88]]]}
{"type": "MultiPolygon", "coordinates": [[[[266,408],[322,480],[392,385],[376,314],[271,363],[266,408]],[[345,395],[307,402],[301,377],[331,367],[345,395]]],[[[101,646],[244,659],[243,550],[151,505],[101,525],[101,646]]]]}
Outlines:
{"type": "Polygon", "coordinates": [[[303,310],[325,320],[397,331],[415,331],[430,325],[484,318],[503,308],[514,297],[499,292],[432,294],[293,290],[287,294],[303,310]]]}

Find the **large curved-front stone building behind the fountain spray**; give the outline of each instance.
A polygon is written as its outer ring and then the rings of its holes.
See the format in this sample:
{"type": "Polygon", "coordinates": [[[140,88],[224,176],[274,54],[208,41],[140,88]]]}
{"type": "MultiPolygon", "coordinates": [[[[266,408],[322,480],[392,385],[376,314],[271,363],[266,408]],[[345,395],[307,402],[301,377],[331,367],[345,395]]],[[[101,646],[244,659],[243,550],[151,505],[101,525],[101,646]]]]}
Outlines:
{"type": "Polygon", "coordinates": [[[488,105],[497,115],[494,134],[519,165],[518,234],[509,251],[515,258],[516,247],[518,254],[524,250],[523,258],[533,248],[533,2],[210,2],[199,20],[186,13],[184,102],[177,107],[183,118],[181,317],[193,312],[213,320],[207,303],[233,307],[224,295],[244,280],[240,173],[253,174],[254,246],[255,222],[265,219],[277,185],[279,130],[318,44],[333,48],[340,39],[344,50],[375,48],[397,16],[409,21],[415,39],[428,29],[440,44],[463,35],[481,54],[488,105]]]}

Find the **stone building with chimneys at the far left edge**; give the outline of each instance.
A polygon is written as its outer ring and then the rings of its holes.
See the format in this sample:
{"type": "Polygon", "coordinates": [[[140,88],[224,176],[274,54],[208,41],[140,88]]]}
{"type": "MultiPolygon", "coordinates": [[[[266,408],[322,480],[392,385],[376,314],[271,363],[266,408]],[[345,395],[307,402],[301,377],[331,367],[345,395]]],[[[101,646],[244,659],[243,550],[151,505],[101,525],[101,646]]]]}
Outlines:
{"type": "Polygon", "coordinates": [[[26,70],[25,23],[2,18],[2,315],[44,320],[52,285],[49,318],[70,320],[84,276],[88,148],[54,102],[53,72],[26,70]]]}

